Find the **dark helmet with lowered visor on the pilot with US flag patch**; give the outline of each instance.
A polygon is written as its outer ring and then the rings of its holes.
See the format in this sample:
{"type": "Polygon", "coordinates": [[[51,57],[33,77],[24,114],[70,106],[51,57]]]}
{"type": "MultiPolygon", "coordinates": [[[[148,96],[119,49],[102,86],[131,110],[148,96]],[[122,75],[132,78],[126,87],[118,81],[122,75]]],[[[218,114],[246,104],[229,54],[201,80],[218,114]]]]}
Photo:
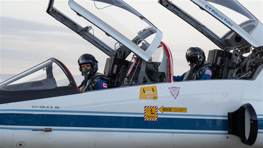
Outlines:
{"type": "Polygon", "coordinates": [[[205,52],[199,47],[190,47],[186,51],[185,58],[193,67],[199,67],[205,63],[205,52]]]}

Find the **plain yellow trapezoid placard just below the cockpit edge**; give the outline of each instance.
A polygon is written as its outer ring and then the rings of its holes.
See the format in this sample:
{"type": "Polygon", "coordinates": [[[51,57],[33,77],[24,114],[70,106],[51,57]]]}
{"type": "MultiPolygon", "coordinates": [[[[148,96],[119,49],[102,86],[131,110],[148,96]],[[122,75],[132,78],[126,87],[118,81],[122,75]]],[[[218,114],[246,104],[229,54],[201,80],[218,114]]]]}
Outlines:
{"type": "Polygon", "coordinates": [[[146,86],[140,88],[139,99],[158,99],[157,87],[156,86],[146,86]]]}

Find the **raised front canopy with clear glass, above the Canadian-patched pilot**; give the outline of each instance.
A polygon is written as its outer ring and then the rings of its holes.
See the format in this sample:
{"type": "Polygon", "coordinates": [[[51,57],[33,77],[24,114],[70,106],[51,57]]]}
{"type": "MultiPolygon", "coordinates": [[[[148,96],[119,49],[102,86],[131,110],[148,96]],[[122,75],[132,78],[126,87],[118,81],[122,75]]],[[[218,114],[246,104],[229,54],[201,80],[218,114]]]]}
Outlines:
{"type": "Polygon", "coordinates": [[[69,0],[65,7],[71,12],[60,9],[60,3],[62,2],[50,0],[47,13],[109,56],[113,56],[121,47],[126,49],[127,55],[134,52],[148,61],[162,40],[160,30],[121,0],[69,0]],[[77,21],[79,16],[85,19],[81,20],[86,21],[84,25],[93,25],[83,26],[77,21]]]}

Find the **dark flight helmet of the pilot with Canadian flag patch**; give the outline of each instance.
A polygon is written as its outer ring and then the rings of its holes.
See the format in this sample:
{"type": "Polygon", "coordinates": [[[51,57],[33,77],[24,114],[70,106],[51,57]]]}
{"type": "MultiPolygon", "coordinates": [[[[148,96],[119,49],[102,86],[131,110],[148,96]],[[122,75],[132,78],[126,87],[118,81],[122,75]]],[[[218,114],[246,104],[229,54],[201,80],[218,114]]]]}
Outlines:
{"type": "Polygon", "coordinates": [[[82,64],[91,64],[91,68],[92,68],[92,74],[95,74],[98,71],[98,61],[95,59],[95,57],[91,54],[82,54],[80,56],[80,58],[78,59],[78,64],[79,64],[79,70],[81,72],[81,75],[83,76],[83,70],[81,65],[82,64]]]}

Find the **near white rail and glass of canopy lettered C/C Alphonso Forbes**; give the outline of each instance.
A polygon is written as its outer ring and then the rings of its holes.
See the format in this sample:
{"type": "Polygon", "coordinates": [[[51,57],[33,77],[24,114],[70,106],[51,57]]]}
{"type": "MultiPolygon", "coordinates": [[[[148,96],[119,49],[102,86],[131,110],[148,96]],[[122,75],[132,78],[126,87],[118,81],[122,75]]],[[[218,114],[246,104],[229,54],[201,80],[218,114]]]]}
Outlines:
{"type": "Polygon", "coordinates": [[[236,0],[192,0],[192,2],[239,34],[252,46],[263,46],[262,23],[236,0]]]}

